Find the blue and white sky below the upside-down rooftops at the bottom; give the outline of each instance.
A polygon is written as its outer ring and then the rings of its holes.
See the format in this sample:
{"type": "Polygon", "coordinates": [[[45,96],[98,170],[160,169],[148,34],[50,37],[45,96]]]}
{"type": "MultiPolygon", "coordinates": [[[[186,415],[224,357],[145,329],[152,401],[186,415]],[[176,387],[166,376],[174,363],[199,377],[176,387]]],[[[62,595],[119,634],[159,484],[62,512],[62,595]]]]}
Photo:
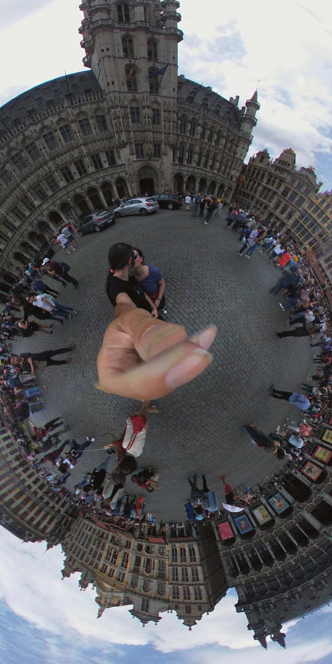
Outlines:
{"type": "Polygon", "coordinates": [[[96,620],[94,590],[80,591],[80,574],[61,580],[60,546],[22,543],[1,529],[0,659],[6,664],[331,664],[332,607],[284,626],[286,650],[269,641],[268,654],[236,614],[236,592],[189,631],[175,614],[144,628],[131,607],[106,610],[96,620]],[[5,657],[5,653],[7,656],[5,657]],[[222,659],[224,658],[224,659],[222,659]]]}

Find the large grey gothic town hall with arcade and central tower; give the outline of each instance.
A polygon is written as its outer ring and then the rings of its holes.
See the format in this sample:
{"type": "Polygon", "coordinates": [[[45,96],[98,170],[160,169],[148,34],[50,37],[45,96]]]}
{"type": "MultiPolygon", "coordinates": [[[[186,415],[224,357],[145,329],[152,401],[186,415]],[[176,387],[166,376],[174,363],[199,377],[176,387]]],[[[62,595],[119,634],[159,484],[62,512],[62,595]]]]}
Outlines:
{"type": "Polygon", "coordinates": [[[178,76],[177,0],[80,9],[88,71],[0,109],[0,297],[64,222],[112,197],[175,188],[232,198],[252,141],[257,92],[239,109],[238,96],[178,76]]]}

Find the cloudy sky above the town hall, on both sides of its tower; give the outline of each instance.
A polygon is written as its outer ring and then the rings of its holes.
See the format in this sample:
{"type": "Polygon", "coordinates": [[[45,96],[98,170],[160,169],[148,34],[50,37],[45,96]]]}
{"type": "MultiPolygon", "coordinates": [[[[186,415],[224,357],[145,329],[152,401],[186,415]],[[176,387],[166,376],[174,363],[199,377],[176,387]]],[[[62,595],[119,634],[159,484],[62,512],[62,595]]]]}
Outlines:
{"type": "MultiPolygon", "coordinates": [[[[0,0],[0,105],[45,80],[83,69],[79,0],[0,0]]],[[[181,0],[179,74],[240,106],[261,104],[248,158],[292,147],[331,189],[332,3],[181,0]],[[260,82],[258,82],[260,80],[260,82]]]]}

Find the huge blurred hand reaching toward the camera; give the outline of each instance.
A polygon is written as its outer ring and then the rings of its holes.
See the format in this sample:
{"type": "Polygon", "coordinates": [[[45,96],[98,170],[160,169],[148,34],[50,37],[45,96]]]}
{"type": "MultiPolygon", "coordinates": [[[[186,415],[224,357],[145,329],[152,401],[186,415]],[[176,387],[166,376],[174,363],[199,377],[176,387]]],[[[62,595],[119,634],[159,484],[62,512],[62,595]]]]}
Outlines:
{"type": "Polygon", "coordinates": [[[120,315],[108,325],[98,353],[99,390],[137,400],[159,398],[210,364],[207,349],[216,327],[188,339],[181,325],[153,319],[136,307],[117,305],[117,309],[120,315]]]}

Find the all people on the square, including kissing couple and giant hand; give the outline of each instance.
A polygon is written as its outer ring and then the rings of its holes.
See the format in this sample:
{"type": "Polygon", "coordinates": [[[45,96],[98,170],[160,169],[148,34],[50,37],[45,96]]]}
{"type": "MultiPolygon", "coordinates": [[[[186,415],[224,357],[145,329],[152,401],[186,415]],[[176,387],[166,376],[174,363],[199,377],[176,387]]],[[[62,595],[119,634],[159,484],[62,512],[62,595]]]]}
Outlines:
{"type": "MultiPolygon", "coordinates": [[[[116,201],[114,203],[116,205],[116,201]]],[[[220,217],[225,205],[226,201],[215,197],[185,195],[185,211],[191,211],[192,216],[199,214],[205,218],[206,224],[212,215],[220,217]]],[[[314,351],[317,371],[313,376],[307,376],[313,384],[303,384],[301,394],[291,388],[287,391],[280,390],[279,386],[270,388],[271,398],[297,406],[302,420],[288,421],[282,430],[279,426],[270,434],[262,432],[254,423],[242,426],[258,449],[274,454],[284,463],[287,459],[286,465],[269,480],[273,486],[279,486],[287,467],[303,460],[303,451],[323,422],[326,409],[331,406],[331,315],[323,288],[288,236],[275,232],[273,226],[265,226],[259,216],[236,203],[228,208],[225,228],[238,233],[242,245],[239,256],[250,259],[259,248],[261,256],[265,254],[268,263],[280,271],[270,293],[280,295],[280,307],[290,317],[286,321],[287,329],[276,333],[276,337],[309,336],[311,347],[319,349],[318,353],[314,351]]],[[[50,246],[58,244],[70,253],[78,247],[76,233],[76,226],[68,223],[50,240],[50,246]]],[[[77,444],[74,439],[62,440],[60,436],[67,434],[70,426],[61,416],[41,428],[30,420],[33,413],[42,408],[42,392],[46,389],[44,385],[37,385],[36,376],[47,367],[68,363],[73,346],[68,344],[60,349],[32,353],[27,342],[26,352],[11,352],[12,341],[37,333],[52,336],[55,322],[63,325],[68,317],[78,314],[74,307],[63,305],[57,299],[60,296],[58,288],[72,284],[77,289],[78,280],[69,274],[68,264],[53,257],[32,260],[13,284],[3,306],[0,407],[29,463],[54,491],[76,505],[81,513],[114,523],[117,527],[147,529],[149,533],[159,534],[165,532],[165,524],[158,524],[155,513],[146,511],[144,493],[153,493],[159,488],[159,470],[139,467],[137,461],[145,445],[149,416],[158,412],[151,405],[151,399],[171,392],[204,371],[212,357],[208,349],[216,329],[208,327],[188,339],[183,328],[163,320],[162,314],[167,313],[165,279],[157,266],[145,261],[141,249],[117,242],[110,248],[108,262],[106,293],[114,307],[114,321],[106,330],[98,355],[97,387],[105,392],[136,398],[142,404],[137,412],[127,416],[122,435],[118,439],[111,437],[100,449],[103,456],[100,465],[82,473],[74,493],[68,491],[66,480],[70,471],[84,454],[94,450],[94,438],[87,437],[82,444],[77,444]],[[56,282],[56,288],[45,284],[44,277],[56,282]],[[54,359],[56,355],[67,357],[54,359]]],[[[224,519],[224,505],[241,509],[254,505],[265,490],[260,485],[255,491],[246,485],[232,489],[222,475],[220,481],[225,497],[224,503],[219,505],[216,491],[210,491],[204,474],[201,479],[202,487],[199,488],[197,475],[188,478],[190,495],[184,508],[194,527],[197,521],[224,519]]]]}

